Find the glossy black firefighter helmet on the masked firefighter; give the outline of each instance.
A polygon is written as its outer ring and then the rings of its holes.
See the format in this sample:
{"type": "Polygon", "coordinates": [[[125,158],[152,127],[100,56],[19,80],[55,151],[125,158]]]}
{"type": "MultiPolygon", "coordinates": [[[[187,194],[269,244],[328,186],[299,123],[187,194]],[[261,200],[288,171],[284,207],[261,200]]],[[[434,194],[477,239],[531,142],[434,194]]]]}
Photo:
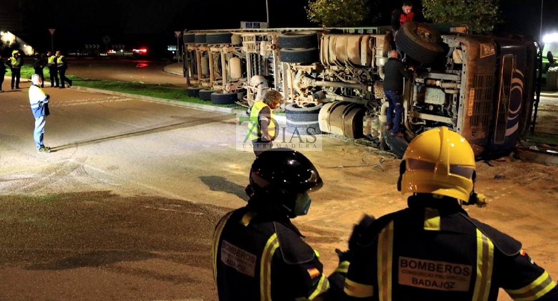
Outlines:
{"type": "Polygon", "coordinates": [[[292,149],[277,148],[262,152],[254,160],[247,193],[292,218],[297,194],[321,186],[318,170],[307,157],[292,149]]]}

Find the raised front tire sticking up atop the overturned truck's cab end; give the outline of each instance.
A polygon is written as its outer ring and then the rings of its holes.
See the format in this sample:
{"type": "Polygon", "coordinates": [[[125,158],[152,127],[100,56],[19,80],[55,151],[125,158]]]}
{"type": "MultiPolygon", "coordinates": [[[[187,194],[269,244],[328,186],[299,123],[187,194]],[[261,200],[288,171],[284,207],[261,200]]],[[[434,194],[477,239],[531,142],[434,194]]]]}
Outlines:
{"type": "Polygon", "coordinates": [[[425,64],[434,62],[444,53],[440,33],[425,23],[403,23],[397,31],[395,43],[408,56],[425,64]]]}

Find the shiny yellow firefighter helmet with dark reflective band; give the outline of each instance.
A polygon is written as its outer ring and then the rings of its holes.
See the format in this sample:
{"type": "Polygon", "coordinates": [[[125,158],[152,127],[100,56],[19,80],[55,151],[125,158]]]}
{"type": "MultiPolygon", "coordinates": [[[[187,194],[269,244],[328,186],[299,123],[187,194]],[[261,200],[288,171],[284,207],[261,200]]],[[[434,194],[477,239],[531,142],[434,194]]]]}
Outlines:
{"type": "Polygon", "coordinates": [[[475,155],[469,142],[442,126],[411,141],[401,162],[398,190],[468,201],[473,191],[475,155]]]}

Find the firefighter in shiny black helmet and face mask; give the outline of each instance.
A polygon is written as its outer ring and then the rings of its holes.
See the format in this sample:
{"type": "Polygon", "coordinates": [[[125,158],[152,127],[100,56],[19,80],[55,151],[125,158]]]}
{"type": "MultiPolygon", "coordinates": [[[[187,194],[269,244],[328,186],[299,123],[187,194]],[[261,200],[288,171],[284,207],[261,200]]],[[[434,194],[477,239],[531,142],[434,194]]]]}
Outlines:
{"type": "MultiPolygon", "coordinates": [[[[317,251],[306,244],[292,218],[306,215],[309,193],[323,185],[300,152],[276,148],[252,164],[248,205],[230,211],[215,227],[213,276],[220,301],[322,300],[341,298],[351,250],[326,277],[317,251]]],[[[365,216],[360,224],[370,221],[365,216]]],[[[368,223],[369,224],[369,223],[368,223]]],[[[351,238],[365,226],[355,226],[351,238]]]]}

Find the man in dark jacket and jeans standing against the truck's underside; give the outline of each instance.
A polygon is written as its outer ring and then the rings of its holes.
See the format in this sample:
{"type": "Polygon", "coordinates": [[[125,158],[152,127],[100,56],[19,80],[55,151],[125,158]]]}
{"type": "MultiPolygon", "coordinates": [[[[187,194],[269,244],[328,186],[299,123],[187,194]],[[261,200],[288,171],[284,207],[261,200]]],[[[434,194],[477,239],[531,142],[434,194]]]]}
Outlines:
{"type": "Polygon", "coordinates": [[[395,50],[389,51],[388,57],[389,59],[384,65],[385,77],[383,81],[384,93],[389,102],[386,130],[389,131],[389,135],[403,137],[403,134],[399,131],[403,113],[403,78],[409,78],[413,68],[409,67],[409,70],[405,70],[405,66],[397,58],[397,51],[395,50]]]}

